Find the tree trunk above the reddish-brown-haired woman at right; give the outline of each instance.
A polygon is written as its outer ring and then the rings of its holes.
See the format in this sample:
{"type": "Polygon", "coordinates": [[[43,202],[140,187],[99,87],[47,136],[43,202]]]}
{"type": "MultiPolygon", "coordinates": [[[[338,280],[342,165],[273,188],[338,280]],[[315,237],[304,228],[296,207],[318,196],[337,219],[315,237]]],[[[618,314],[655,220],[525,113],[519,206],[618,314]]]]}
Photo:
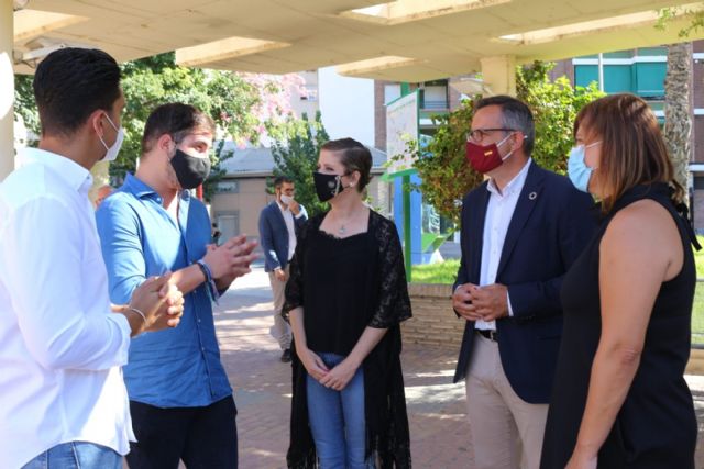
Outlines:
{"type": "Polygon", "coordinates": [[[692,111],[690,79],[692,43],[668,46],[668,75],[664,80],[664,139],[674,166],[674,178],[685,190],[690,187],[692,157],[692,111]]]}

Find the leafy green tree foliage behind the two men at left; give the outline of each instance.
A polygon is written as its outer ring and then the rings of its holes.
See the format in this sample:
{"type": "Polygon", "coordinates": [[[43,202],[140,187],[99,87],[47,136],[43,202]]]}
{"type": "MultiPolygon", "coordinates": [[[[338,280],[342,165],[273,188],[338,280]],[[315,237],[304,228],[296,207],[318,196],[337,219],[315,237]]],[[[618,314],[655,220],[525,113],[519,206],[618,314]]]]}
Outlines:
{"type": "MultiPolygon", "coordinates": [[[[121,72],[125,138],[118,159],[110,165],[110,174],[118,179],[134,171],[144,124],[157,105],[191,104],[213,119],[218,141],[257,143],[267,122],[276,124],[290,112],[289,87],[302,85],[302,79],[295,75],[275,77],[180,67],[174,53],[128,62],[121,65],[121,72]]],[[[15,112],[22,115],[29,130],[38,134],[32,77],[15,77],[15,112]]],[[[231,156],[222,154],[222,147],[217,144],[211,156],[213,170],[205,185],[206,194],[212,192],[215,182],[222,177],[219,163],[231,156]]]]}

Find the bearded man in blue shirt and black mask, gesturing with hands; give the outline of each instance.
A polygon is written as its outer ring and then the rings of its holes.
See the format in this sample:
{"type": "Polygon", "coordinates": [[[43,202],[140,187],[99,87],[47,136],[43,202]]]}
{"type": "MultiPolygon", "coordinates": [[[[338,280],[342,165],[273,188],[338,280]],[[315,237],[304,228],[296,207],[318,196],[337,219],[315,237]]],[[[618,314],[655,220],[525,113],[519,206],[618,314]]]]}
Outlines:
{"type": "Polygon", "coordinates": [[[237,409],[220,362],[212,301],[250,271],[254,242],[211,244],[205,205],[188,190],[210,170],[212,120],[186,104],[147,119],[134,176],[97,212],[113,302],[153,272],[173,271],[186,298],[180,327],[144,334],[130,347],[124,379],[134,433],[134,468],[235,468],[237,409]],[[172,333],[173,332],[173,333],[172,333]]]}

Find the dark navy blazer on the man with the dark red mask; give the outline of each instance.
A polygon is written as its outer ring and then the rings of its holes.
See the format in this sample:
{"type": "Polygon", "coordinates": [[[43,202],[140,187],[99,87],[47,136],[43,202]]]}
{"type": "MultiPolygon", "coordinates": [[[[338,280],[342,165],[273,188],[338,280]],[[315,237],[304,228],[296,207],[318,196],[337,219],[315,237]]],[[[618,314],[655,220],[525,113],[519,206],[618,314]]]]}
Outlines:
{"type": "MultiPolygon", "coordinates": [[[[454,288],[480,281],[487,183],[463,201],[462,260],[454,288]]],[[[496,272],[496,283],[508,288],[514,313],[496,321],[498,350],[506,378],[526,402],[549,401],[562,334],[560,287],[594,233],[593,208],[591,196],[531,161],[496,272]]],[[[473,340],[474,321],[466,321],[454,382],[464,378],[473,340]]]]}

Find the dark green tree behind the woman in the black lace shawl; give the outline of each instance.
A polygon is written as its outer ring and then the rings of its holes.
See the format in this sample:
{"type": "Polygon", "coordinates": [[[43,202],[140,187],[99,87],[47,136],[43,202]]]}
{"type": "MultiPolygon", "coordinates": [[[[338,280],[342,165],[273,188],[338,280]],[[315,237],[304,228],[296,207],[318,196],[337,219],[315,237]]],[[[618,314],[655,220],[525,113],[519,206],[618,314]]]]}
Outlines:
{"type": "Polygon", "coordinates": [[[278,138],[272,147],[276,167],[274,176],[288,176],[296,183],[296,200],[309,215],[328,210],[328,202],[320,202],[316,194],[312,174],[318,167],[318,155],[322,144],[328,142],[320,112],[315,121],[306,114],[301,119],[289,119],[278,126],[278,138]]]}

